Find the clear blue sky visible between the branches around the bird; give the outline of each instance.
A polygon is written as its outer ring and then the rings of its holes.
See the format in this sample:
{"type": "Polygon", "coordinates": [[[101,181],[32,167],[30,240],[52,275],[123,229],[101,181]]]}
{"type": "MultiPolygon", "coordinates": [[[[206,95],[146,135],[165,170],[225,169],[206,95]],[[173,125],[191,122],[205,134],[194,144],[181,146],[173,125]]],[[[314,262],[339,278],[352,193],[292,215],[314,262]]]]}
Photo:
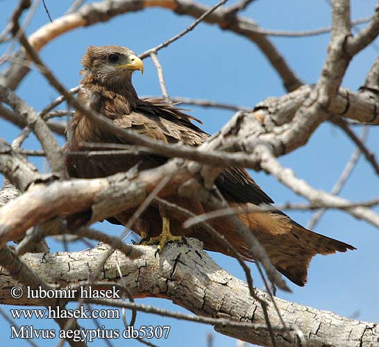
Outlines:
{"type": "MultiPolygon", "coordinates": [[[[90,1],[87,1],[90,2],[90,1]]],[[[17,1],[3,0],[0,2],[0,28],[3,28],[17,1]]],[[[70,1],[46,0],[51,17],[56,19],[68,8],[70,1]]],[[[216,1],[205,1],[208,5],[216,1]]],[[[232,2],[230,2],[231,4],[232,2]]],[[[352,1],[352,17],[371,15],[376,1],[352,1]]],[[[305,29],[330,26],[330,7],[328,1],[301,0],[257,0],[253,1],[243,15],[251,17],[262,28],[303,31],[305,29]]],[[[156,46],[160,42],[175,35],[194,21],[191,17],[178,16],[168,10],[149,8],[141,12],[130,13],[112,19],[112,21],[80,28],[74,32],[58,37],[42,51],[42,59],[55,71],[56,76],[67,87],[78,85],[78,75],[81,56],[88,45],[119,44],[128,46],[136,53],[156,46]]],[[[48,22],[42,5],[38,8],[28,33],[48,22]]],[[[360,26],[362,28],[362,26],[360,26]]],[[[305,83],[314,83],[319,78],[323,61],[326,58],[326,47],[329,35],[319,35],[305,38],[278,38],[271,40],[276,44],[290,67],[305,83]]],[[[0,46],[1,51],[6,45],[0,46]]],[[[344,87],[357,90],[362,85],[367,71],[378,56],[378,48],[369,47],[358,54],[348,67],[344,78],[344,87]]],[[[171,96],[187,96],[190,98],[210,99],[253,107],[259,101],[269,96],[285,94],[282,82],[276,71],[273,71],[267,59],[250,41],[228,31],[222,31],[218,26],[200,24],[194,31],[174,42],[167,49],[162,49],[158,57],[165,72],[167,89],[171,96]],[[230,62],[233,62],[231,64],[230,62]]],[[[144,60],[144,76],[134,76],[135,88],[140,94],[159,95],[158,78],[151,60],[144,60]]],[[[4,67],[4,65],[3,65],[4,67]]],[[[3,68],[2,67],[2,68],[3,68]]],[[[1,67],[0,67],[1,68],[1,67]]],[[[17,93],[25,101],[40,110],[58,94],[49,87],[44,78],[32,71],[24,79],[17,93]]],[[[190,107],[192,115],[203,121],[203,128],[208,133],[215,133],[233,112],[190,107]]],[[[19,129],[6,121],[1,121],[1,137],[10,142],[19,134],[19,129]]],[[[354,128],[358,134],[360,127],[354,128]]],[[[63,139],[60,139],[63,143],[63,139]]],[[[376,151],[379,146],[378,129],[371,128],[369,146],[376,151]]],[[[32,136],[24,146],[37,149],[32,136]]],[[[339,177],[354,146],[343,133],[330,124],[323,124],[311,137],[307,146],[285,155],[280,162],[286,167],[292,167],[297,176],[310,185],[329,191],[339,177]]],[[[40,160],[33,160],[41,169],[40,160]]],[[[273,198],[276,203],[287,201],[300,202],[303,199],[296,196],[274,178],[262,172],[252,172],[253,178],[273,198]]],[[[378,177],[364,160],[360,158],[358,166],[342,190],[342,196],[352,201],[362,201],[374,198],[379,193],[378,177]]],[[[377,209],[378,211],[378,209],[377,209]]],[[[378,211],[379,212],[379,211],[378,211]]],[[[306,225],[311,217],[310,212],[290,212],[290,216],[306,225]]],[[[99,223],[101,230],[112,235],[121,232],[121,228],[109,223],[99,223]]],[[[344,316],[360,312],[362,321],[379,321],[378,294],[378,244],[379,230],[373,226],[358,221],[344,212],[328,212],[315,228],[316,232],[341,239],[357,247],[356,251],[344,254],[321,255],[314,257],[310,265],[308,285],[300,288],[289,283],[292,294],[278,291],[280,298],[301,303],[322,310],[330,310],[344,316]]],[[[62,250],[62,245],[49,240],[53,251],[62,250]]],[[[81,244],[73,244],[71,250],[83,248],[81,244]]],[[[212,253],[213,259],[238,278],[244,278],[237,262],[224,255],[212,253]]],[[[253,277],[258,288],[262,288],[255,266],[251,266],[253,277]]],[[[140,303],[158,305],[170,310],[185,310],[162,299],[144,299],[140,303]]],[[[3,307],[8,310],[8,307],[3,307]]],[[[18,321],[19,325],[26,324],[18,321]]],[[[53,321],[28,321],[36,328],[55,328],[53,321]]],[[[93,327],[91,322],[81,321],[85,327],[93,327]]],[[[107,321],[107,328],[119,328],[118,321],[107,321]]],[[[169,339],[155,341],[158,346],[206,346],[206,334],[212,332],[212,327],[195,323],[176,321],[160,316],[139,314],[139,325],[171,325],[169,339]]],[[[8,323],[0,320],[0,332],[3,339],[10,336],[8,323]]],[[[10,340],[9,340],[10,341],[10,340]]],[[[51,346],[51,341],[37,341],[40,346],[51,346]]],[[[123,341],[112,341],[114,346],[121,346],[123,341]]],[[[140,346],[137,341],[129,341],[129,346],[140,346]]],[[[26,342],[15,341],[12,346],[26,346],[26,342]]],[[[102,341],[94,341],[91,346],[103,346],[102,341]]],[[[214,333],[214,346],[235,346],[235,340],[214,333]]]]}

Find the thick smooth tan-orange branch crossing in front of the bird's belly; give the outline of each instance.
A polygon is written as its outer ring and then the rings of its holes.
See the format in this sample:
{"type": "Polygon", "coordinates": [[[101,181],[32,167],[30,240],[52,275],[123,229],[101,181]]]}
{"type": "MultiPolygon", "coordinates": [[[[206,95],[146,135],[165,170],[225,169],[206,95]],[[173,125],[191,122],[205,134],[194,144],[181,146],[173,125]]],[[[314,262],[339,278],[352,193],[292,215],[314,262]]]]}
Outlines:
{"type": "Polygon", "coordinates": [[[94,222],[128,210],[142,203],[160,180],[170,173],[176,173],[173,180],[175,184],[162,190],[161,196],[165,196],[176,192],[178,185],[190,177],[186,169],[177,166],[177,162],[143,171],[137,176],[121,173],[94,180],[35,185],[26,194],[0,209],[0,216],[3,216],[0,217],[1,247],[8,240],[24,237],[31,226],[62,214],[89,211],[90,221],[94,222]],[[9,219],[9,213],[12,214],[12,219],[9,219]]]}

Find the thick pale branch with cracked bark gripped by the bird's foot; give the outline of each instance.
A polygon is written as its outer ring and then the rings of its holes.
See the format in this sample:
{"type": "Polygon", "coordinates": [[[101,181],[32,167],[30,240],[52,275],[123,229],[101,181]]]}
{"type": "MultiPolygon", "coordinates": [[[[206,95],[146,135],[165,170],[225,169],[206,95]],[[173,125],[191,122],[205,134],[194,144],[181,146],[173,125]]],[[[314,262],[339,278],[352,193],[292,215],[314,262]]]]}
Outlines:
{"type": "MultiPolygon", "coordinates": [[[[126,285],[135,298],[146,296],[168,298],[199,315],[197,318],[194,317],[196,318],[194,321],[212,323],[217,331],[253,344],[269,345],[262,309],[258,301],[249,296],[247,285],[221,269],[199,247],[201,247],[199,241],[190,239],[188,246],[167,246],[158,259],[154,255],[155,248],[150,246],[137,246],[143,256],[136,260],[129,260],[117,251],[108,259],[99,280],[109,282],[110,286],[114,282],[126,285]],[[124,283],[119,278],[117,262],[124,275],[124,283]],[[196,290],[192,290],[193,288],[196,290]],[[203,320],[202,316],[219,319],[220,323],[217,324],[214,319],[203,320]],[[228,324],[230,319],[235,323],[228,324]],[[246,325],[249,322],[253,324],[246,325]]],[[[108,247],[103,245],[77,253],[28,254],[24,255],[22,260],[31,266],[33,271],[41,273],[44,281],[58,283],[60,288],[65,288],[67,285],[85,285],[89,271],[93,271],[96,267],[94,260],[101,258],[106,251],[108,247]]],[[[6,276],[6,271],[2,273],[1,303],[45,305],[42,299],[28,299],[26,296],[17,300],[12,298],[10,287],[19,283],[6,276]]],[[[269,301],[267,294],[262,291],[258,291],[258,296],[269,301]]],[[[303,332],[306,339],[306,346],[309,347],[369,346],[375,344],[379,337],[376,323],[346,319],[332,312],[289,303],[280,298],[276,298],[276,303],[289,327],[294,326],[296,322],[297,328],[303,332]]],[[[107,304],[135,307],[144,312],[166,315],[165,310],[151,310],[144,305],[119,301],[113,303],[107,301],[107,304]]],[[[278,346],[294,346],[296,333],[293,330],[287,332],[280,328],[278,316],[270,301],[268,310],[278,346]]]]}

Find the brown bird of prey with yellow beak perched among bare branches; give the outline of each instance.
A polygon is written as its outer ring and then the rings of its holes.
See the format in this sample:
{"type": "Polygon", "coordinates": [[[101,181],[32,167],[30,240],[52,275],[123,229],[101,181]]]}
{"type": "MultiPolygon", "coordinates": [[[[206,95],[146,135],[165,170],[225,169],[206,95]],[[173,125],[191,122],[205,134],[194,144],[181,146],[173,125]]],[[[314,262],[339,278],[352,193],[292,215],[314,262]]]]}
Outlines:
{"type": "MultiPolygon", "coordinates": [[[[121,128],[144,134],[165,143],[182,142],[199,146],[209,135],[192,123],[197,120],[162,99],[139,99],[132,84],[133,71],[144,71],[142,60],[122,46],[89,46],[83,56],[83,79],[78,100],[101,113],[121,128]]],[[[85,143],[121,143],[116,135],[102,129],[76,111],[70,125],[69,151],[86,151],[85,143]]],[[[91,148],[93,151],[94,149],[91,148]]],[[[161,155],[110,155],[85,157],[67,154],[67,169],[72,177],[98,178],[127,171],[139,163],[140,170],[158,167],[167,162],[161,155]]],[[[225,169],[215,181],[230,205],[247,207],[249,204],[270,204],[271,198],[255,183],[244,169],[225,169]]],[[[207,212],[198,201],[171,196],[169,201],[195,214],[207,212]]],[[[108,219],[112,223],[126,223],[133,211],[126,211],[108,219]]],[[[276,269],[296,285],[307,281],[310,260],[317,254],[330,254],[355,249],[335,239],[303,228],[280,211],[239,214],[239,219],[253,232],[269,255],[276,269]]],[[[133,225],[133,231],[160,248],[180,236],[200,239],[204,248],[230,255],[228,249],[213,239],[201,226],[183,229],[184,219],[173,212],[151,205],[133,225]],[[161,232],[162,231],[162,232],[161,232]],[[176,235],[173,237],[172,235],[176,235]]],[[[233,244],[246,260],[253,260],[242,237],[228,224],[228,219],[210,221],[233,244]]]]}

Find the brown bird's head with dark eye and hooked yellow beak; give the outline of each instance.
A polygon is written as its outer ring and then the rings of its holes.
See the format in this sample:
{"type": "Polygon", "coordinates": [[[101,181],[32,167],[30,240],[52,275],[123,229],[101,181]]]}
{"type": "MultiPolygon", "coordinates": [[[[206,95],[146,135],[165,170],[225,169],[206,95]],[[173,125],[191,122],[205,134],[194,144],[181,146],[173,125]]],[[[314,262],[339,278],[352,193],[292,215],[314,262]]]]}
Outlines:
{"type": "Polygon", "coordinates": [[[83,56],[82,73],[104,84],[131,80],[133,71],[144,72],[144,64],[133,51],[123,46],[89,46],[83,56]]]}

